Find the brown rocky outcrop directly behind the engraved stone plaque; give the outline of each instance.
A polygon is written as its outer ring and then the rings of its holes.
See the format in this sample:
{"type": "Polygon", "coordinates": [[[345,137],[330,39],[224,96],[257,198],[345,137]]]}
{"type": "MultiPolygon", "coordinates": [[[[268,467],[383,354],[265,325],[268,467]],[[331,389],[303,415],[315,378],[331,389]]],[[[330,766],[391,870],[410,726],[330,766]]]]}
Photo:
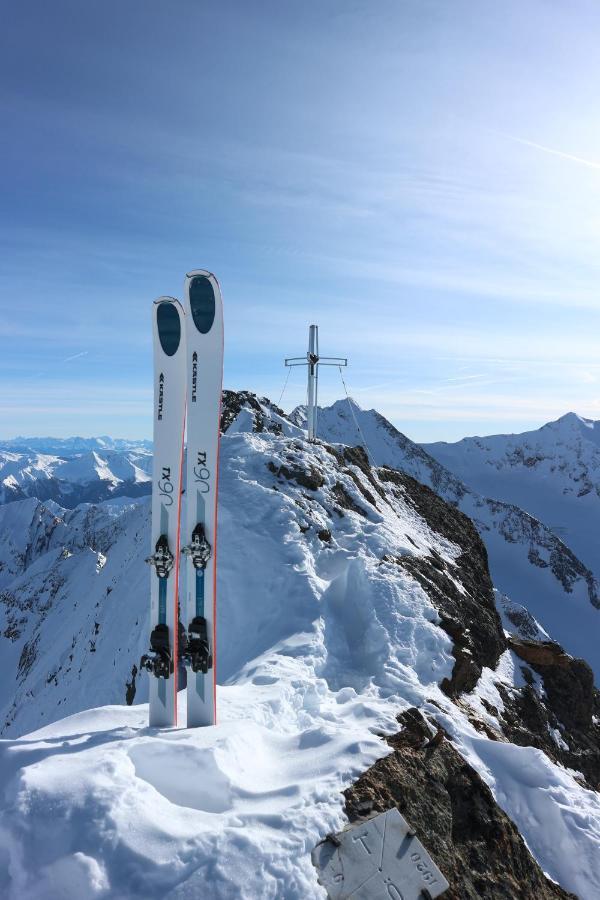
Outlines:
{"type": "Polygon", "coordinates": [[[416,709],[387,737],[392,753],[344,791],[351,821],[396,806],[450,882],[447,900],[567,900],[490,789],[416,709]]]}

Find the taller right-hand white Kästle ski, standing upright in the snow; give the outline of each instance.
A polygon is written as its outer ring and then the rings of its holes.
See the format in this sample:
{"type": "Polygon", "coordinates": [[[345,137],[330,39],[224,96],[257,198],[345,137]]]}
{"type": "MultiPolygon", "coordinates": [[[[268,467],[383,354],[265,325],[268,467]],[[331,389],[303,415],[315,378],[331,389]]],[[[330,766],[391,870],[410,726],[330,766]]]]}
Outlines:
{"type": "Polygon", "coordinates": [[[214,725],[217,490],[223,380],[223,305],[219,283],[198,269],[185,279],[187,458],[182,552],[185,559],[187,724],[214,725]]]}

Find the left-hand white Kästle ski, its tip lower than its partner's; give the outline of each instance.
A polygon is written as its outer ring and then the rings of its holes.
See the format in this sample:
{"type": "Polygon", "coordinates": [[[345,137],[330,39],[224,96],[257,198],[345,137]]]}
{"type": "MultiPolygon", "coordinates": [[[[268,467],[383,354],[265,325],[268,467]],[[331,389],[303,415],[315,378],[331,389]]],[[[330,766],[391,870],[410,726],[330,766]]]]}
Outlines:
{"type": "Polygon", "coordinates": [[[183,431],[185,316],[179,301],[160,297],[152,309],[154,337],[153,566],[150,649],[150,725],[177,724],[178,575],[183,431]]]}

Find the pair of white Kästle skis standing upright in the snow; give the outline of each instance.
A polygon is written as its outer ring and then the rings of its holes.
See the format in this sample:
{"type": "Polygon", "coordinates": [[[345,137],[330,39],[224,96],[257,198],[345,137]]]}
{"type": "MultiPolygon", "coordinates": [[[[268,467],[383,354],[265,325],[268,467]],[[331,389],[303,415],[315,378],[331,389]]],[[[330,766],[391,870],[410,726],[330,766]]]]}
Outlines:
{"type": "Polygon", "coordinates": [[[177,725],[178,671],[185,666],[187,725],[192,728],[216,721],[223,306],[215,276],[204,270],[186,275],[183,306],[173,297],[156,300],[153,336],[152,555],[147,561],[154,574],[150,650],[140,666],[150,673],[150,725],[156,727],[177,725]]]}

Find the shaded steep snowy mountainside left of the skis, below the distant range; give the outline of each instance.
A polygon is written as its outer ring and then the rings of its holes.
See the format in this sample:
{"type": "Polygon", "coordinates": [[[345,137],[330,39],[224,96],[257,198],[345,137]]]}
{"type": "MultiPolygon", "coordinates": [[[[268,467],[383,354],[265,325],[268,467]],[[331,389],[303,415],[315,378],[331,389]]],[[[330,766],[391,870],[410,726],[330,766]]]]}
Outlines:
{"type": "Polygon", "coordinates": [[[147,521],[147,499],[58,515],[33,499],[0,507],[2,734],[123,702],[146,649],[147,521]]]}

